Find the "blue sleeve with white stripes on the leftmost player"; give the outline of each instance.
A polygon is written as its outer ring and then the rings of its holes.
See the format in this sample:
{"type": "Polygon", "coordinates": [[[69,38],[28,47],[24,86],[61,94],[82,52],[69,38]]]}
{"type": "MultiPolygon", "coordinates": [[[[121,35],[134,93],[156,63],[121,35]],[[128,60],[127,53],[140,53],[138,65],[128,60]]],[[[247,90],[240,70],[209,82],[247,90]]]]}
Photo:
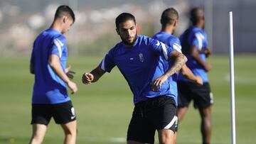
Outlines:
{"type": "Polygon", "coordinates": [[[53,39],[53,45],[50,48],[50,54],[58,55],[58,57],[61,57],[63,54],[63,50],[65,50],[65,37],[58,37],[53,39]]]}

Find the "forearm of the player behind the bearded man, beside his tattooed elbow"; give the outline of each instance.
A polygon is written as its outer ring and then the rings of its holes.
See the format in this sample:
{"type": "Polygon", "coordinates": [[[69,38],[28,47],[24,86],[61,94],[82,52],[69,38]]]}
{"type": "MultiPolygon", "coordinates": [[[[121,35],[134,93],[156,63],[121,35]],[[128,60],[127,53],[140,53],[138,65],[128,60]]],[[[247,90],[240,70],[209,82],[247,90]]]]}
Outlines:
{"type": "Polygon", "coordinates": [[[203,85],[203,79],[201,77],[198,77],[191,72],[191,70],[185,65],[181,67],[181,74],[185,76],[187,79],[190,79],[194,82],[197,82],[200,85],[203,85]]]}

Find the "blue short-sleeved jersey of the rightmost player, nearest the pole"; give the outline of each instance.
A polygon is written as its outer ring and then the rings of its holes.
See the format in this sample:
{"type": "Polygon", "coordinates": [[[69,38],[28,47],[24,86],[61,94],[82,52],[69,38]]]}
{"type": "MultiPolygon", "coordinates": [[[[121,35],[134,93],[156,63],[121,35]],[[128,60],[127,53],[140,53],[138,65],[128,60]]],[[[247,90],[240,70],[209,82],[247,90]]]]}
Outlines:
{"type": "MultiPolygon", "coordinates": [[[[203,31],[202,28],[198,28],[196,26],[193,26],[191,28],[188,28],[180,37],[181,40],[181,46],[182,46],[182,52],[186,57],[188,58],[188,61],[186,62],[186,65],[190,68],[190,70],[195,74],[196,76],[199,76],[203,79],[203,82],[208,82],[208,76],[206,73],[206,70],[203,69],[201,65],[196,62],[193,57],[191,57],[190,54],[190,48],[191,46],[196,46],[199,51],[199,55],[203,61],[206,61],[206,54],[203,53],[203,49],[207,48],[208,41],[205,31],[203,31]]],[[[181,81],[188,81],[189,79],[186,79],[186,77],[183,77],[182,74],[178,75],[178,80],[181,81]]]]}

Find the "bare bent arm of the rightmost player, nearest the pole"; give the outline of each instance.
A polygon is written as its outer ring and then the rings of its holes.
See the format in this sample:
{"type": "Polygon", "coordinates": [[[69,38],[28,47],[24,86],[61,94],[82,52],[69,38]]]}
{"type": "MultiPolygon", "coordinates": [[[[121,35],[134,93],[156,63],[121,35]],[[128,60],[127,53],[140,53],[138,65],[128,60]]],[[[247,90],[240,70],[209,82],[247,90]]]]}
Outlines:
{"type": "Polygon", "coordinates": [[[207,62],[204,62],[201,57],[199,56],[199,52],[198,49],[196,48],[195,45],[193,45],[191,47],[191,56],[196,60],[196,62],[198,62],[199,65],[201,65],[203,67],[204,70],[206,70],[206,72],[209,72],[211,69],[210,64],[208,64],[207,62]]]}

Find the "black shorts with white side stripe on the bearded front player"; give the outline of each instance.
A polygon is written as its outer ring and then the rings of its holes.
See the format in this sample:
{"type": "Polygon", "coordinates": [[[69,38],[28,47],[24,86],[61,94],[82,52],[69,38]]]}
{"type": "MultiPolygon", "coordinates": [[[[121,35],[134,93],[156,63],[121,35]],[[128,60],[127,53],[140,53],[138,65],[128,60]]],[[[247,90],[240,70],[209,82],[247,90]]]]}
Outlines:
{"type": "Polygon", "coordinates": [[[171,96],[157,96],[135,104],[127,140],[154,143],[156,130],[177,131],[176,103],[171,96]]]}

